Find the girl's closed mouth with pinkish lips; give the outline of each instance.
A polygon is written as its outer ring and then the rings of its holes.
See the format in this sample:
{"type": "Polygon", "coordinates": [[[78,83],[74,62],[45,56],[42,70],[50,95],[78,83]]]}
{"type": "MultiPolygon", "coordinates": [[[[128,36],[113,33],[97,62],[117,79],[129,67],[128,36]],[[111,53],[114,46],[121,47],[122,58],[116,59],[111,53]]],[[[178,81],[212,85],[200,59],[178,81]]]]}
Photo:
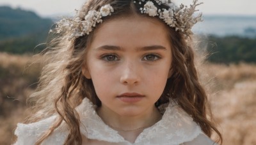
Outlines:
{"type": "Polygon", "coordinates": [[[117,96],[118,99],[126,103],[139,102],[141,99],[143,99],[143,97],[145,97],[145,95],[141,95],[140,93],[122,93],[121,95],[117,96]]]}

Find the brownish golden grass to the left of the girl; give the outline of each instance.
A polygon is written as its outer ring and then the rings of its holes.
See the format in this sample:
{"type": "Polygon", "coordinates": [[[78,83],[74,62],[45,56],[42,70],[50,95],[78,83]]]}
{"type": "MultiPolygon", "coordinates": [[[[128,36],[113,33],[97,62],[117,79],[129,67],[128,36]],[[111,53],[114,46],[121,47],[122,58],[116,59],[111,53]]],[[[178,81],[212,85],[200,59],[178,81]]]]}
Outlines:
{"type": "Polygon", "coordinates": [[[35,89],[33,83],[38,79],[40,65],[34,62],[38,59],[31,55],[0,53],[0,144],[15,141],[16,124],[29,114],[26,97],[35,89]]]}

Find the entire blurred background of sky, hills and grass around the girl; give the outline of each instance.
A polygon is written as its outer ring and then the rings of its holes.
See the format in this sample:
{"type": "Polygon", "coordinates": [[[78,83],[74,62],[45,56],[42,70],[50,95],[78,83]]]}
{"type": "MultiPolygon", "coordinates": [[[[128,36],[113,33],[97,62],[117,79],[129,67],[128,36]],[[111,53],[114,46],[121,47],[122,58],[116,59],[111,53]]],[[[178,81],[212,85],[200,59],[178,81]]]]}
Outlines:
{"type": "MultiPolygon", "coordinates": [[[[192,0],[179,1],[189,4],[192,0]]],[[[72,16],[83,0],[0,0],[0,144],[29,114],[40,56],[53,22],[72,16]],[[39,45],[43,43],[42,45],[39,45]],[[39,45],[39,46],[36,46],[39,45]],[[35,47],[36,46],[36,47],[35,47]]],[[[193,31],[207,51],[199,67],[224,145],[256,144],[256,1],[205,1],[204,22],[193,31]]]]}

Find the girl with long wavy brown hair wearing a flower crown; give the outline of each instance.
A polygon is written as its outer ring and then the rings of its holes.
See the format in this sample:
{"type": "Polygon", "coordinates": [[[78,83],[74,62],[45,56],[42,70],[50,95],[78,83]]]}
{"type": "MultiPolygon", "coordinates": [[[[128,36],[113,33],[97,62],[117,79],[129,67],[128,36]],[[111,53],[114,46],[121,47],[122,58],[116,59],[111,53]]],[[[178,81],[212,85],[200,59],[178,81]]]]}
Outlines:
{"type": "Polygon", "coordinates": [[[189,46],[198,4],[88,0],[58,22],[16,144],[214,144],[189,46]]]}

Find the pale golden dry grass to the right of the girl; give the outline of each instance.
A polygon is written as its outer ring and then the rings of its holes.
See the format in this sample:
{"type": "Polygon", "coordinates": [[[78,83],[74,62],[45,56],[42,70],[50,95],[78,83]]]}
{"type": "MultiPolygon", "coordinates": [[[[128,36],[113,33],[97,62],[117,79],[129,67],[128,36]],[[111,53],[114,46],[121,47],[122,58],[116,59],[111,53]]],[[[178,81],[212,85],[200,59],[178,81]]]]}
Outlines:
{"type": "Polygon", "coordinates": [[[214,83],[209,94],[223,144],[256,144],[256,66],[203,66],[214,83]]]}

